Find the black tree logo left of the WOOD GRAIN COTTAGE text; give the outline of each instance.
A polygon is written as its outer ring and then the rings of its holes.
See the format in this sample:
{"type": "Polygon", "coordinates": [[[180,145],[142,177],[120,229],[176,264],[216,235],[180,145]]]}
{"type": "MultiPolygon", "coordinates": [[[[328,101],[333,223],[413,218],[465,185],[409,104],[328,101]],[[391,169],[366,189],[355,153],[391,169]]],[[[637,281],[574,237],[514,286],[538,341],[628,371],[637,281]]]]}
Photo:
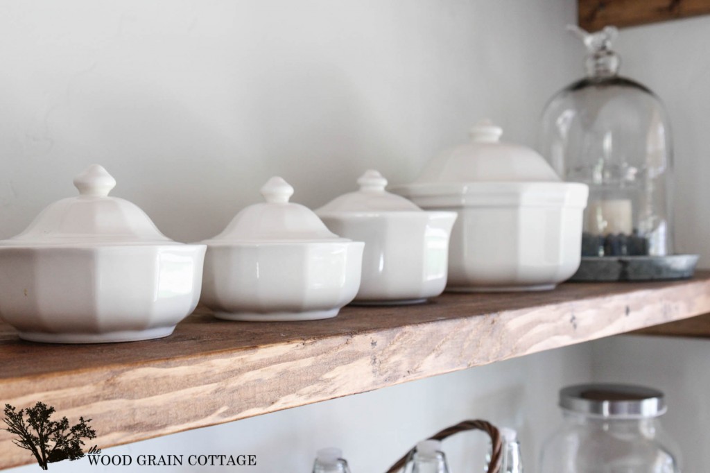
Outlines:
{"type": "Polygon", "coordinates": [[[89,426],[91,419],[79,418],[77,425],[69,426],[69,420],[50,420],[55,408],[45,403],[36,403],[32,408],[21,409],[5,404],[5,418],[9,433],[17,435],[12,442],[20,448],[29,450],[37,459],[42,469],[48,463],[62,460],[78,460],[84,456],[82,438],[96,437],[96,431],[89,426]],[[25,418],[27,415],[27,418],[25,418]]]}

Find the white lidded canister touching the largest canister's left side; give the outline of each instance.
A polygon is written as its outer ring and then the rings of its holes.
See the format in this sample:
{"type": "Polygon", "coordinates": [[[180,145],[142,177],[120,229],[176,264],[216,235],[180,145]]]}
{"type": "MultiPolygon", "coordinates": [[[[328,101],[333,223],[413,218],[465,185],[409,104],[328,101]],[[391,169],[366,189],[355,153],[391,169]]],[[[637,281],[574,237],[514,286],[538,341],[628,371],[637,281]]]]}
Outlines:
{"type": "Polygon", "coordinates": [[[376,170],[368,170],[357,182],[358,191],[316,210],[332,232],[365,242],[354,303],[420,303],[441,294],[456,212],[425,212],[387,192],[387,180],[376,170]]]}

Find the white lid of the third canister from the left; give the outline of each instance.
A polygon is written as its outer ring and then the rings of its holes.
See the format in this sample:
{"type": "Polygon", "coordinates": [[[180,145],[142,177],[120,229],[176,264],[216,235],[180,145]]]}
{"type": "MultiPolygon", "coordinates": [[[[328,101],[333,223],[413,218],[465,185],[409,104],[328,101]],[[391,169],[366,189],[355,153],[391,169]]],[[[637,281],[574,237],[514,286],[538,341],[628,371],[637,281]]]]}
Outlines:
{"type": "Polygon", "coordinates": [[[387,180],[376,170],[367,170],[357,180],[360,190],[334,198],[317,214],[369,213],[369,212],[424,212],[414,202],[385,190],[387,180]]]}

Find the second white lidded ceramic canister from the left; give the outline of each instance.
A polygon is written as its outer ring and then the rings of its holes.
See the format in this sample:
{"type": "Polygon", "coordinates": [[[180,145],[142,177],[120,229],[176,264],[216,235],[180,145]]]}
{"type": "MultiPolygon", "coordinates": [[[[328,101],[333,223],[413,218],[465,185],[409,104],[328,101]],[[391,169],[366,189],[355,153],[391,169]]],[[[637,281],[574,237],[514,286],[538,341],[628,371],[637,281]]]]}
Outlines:
{"type": "Polygon", "coordinates": [[[293,187],[271,178],[266,202],[241,210],[207,244],[202,303],[226,320],[335,317],[360,286],[364,243],[330,232],[289,202],[293,187]]]}

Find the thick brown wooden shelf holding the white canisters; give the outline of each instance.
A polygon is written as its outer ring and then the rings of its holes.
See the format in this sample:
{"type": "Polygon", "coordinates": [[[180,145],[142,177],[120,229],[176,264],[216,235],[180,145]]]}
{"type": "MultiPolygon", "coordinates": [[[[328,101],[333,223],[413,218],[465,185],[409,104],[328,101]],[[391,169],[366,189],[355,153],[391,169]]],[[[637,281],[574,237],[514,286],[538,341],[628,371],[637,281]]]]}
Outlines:
{"type": "MultiPolygon", "coordinates": [[[[164,339],[21,342],[0,324],[0,403],[92,418],[100,447],[229,422],[710,312],[689,281],[563,284],[347,307],[319,322],[225,322],[199,311],[164,339]]],[[[94,441],[92,441],[94,442],[94,441]]],[[[31,462],[0,431],[0,469],[31,462]]]]}

